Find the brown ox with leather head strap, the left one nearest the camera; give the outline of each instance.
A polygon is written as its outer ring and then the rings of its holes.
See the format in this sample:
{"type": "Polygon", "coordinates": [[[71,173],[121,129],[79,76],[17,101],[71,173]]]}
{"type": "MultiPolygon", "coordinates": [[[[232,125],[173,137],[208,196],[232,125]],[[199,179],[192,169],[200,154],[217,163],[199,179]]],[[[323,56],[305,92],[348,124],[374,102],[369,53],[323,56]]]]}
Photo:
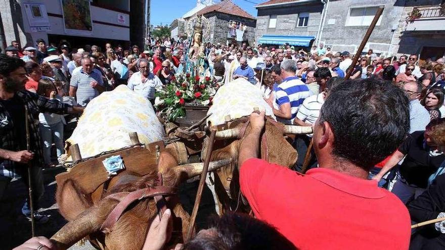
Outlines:
{"type": "MultiPolygon", "coordinates": [[[[230,162],[212,162],[209,170],[228,163],[230,162]]],[[[111,179],[108,191],[105,190],[100,198],[87,195],[76,181],[67,179],[59,183],[56,198],[60,213],[69,222],[51,239],[60,249],[66,249],[84,237],[101,249],[141,249],[149,225],[157,214],[153,199],[136,201],[124,211],[112,228],[100,230],[110,212],[125,196],[126,193],[123,192],[155,187],[158,173],[162,174],[163,186],[175,189],[182,181],[199,175],[202,167],[203,164],[200,163],[178,166],[173,156],[162,152],[157,167],[148,169],[144,176],[129,171],[118,174],[111,179]]],[[[190,216],[183,210],[177,197],[167,197],[166,201],[173,218],[170,243],[180,242],[187,233],[190,216]]]]}

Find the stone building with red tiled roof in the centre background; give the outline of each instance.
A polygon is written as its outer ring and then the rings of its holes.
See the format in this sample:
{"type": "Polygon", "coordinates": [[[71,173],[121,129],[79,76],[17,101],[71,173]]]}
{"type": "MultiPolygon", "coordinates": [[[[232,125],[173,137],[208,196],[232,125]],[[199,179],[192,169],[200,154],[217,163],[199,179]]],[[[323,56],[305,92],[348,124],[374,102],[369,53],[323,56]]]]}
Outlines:
{"type": "Polygon", "coordinates": [[[196,15],[203,15],[209,19],[210,38],[206,42],[221,44],[232,42],[229,33],[229,23],[232,21],[246,26],[242,41],[247,41],[249,44],[254,42],[256,19],[230,0],[221,0],[218,4],[207,6],[196,15]]]}

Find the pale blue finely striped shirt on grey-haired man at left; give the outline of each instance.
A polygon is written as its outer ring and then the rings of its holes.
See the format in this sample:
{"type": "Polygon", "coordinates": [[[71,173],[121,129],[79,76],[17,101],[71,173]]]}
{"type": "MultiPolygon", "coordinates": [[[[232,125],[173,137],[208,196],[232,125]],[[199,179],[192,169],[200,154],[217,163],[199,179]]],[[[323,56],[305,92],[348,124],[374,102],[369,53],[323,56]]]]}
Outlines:
{"type": "Polygon", "coordinates": [[[95,70],[90,74],[83,72],[83,69],[77,72],[73,71],[70,86],[77,88],[76,102],[78,105],[85,107],[94,97],[99,95],[99,91],[90,86],[92,81],[97,81],[101,86],[104,86],[102,75],[95,70]]]}

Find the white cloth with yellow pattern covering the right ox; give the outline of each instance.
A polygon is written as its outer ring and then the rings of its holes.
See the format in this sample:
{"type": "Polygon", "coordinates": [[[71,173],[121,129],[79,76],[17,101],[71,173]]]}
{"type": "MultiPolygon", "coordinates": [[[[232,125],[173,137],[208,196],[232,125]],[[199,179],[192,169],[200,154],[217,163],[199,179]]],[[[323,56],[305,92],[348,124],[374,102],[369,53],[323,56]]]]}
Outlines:
{"type": "Polygon", "coordinates": [[[264,93],[243,78],[221,86],[213,96],[212,102],[213,105],[207,112],[212,113],[207,119],[207,123],[210,122],[212,126],[225,123],[227,115],[230,115],[231,119],[248,116],[255,107],[276,120],[272,108],[264,101],[264,93]]]}

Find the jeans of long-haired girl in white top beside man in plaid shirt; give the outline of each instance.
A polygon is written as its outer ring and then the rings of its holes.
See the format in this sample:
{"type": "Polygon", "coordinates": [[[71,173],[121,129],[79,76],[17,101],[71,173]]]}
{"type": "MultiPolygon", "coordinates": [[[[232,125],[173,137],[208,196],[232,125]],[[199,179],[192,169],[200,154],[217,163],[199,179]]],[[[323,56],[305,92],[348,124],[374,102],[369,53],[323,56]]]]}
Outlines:
{"type": "Polygon", "coordinates": [[[40,138],[42,142],[43,161],[46,165],[51,165],[51,144],[56,144],[57,157],[64,153],[63,145],[63,123],[58,122],[52,125],[39,124],[40,138]]]}

